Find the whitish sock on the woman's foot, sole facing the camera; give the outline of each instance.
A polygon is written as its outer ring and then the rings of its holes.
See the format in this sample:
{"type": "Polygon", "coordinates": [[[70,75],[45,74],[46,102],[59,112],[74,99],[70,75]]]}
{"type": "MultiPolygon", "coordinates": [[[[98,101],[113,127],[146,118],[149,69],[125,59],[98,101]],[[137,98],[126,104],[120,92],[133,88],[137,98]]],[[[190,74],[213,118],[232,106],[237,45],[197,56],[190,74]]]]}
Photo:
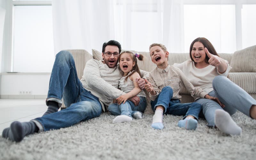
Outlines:
{"type": "Polygon", "coordinates": [[[221,132],[229,135],[240,135],[242,128],[237,126],[236,122],[232,120],[230,115],[221,109],[215,111],[214,123],[221,132]]]}

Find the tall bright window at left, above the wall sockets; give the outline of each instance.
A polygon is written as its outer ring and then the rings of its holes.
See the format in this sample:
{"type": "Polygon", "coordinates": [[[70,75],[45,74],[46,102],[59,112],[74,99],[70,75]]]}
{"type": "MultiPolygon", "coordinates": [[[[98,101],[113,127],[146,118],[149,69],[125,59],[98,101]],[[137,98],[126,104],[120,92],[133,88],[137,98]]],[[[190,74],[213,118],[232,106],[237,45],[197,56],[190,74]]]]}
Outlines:
{"type": "Polygon", "coordinates": [[[52,6],[13,1],[12,71],[51,72],[54,62],[52,6]]]}

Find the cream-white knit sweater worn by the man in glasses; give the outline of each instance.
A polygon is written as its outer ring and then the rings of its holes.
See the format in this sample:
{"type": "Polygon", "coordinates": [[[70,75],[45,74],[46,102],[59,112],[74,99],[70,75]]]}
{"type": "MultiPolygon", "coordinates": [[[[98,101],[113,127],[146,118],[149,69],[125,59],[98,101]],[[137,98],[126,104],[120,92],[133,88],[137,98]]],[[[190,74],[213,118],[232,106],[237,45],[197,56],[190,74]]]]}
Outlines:
{"type": "Polygon", "coordinates": [[[103,104],[110,105],[114,98],[125,94],[117,89],[121,77],[118,67],[109,68],[101,61],[90,59],[86,62],[81,82],[86,90],[99,98],[102,109],[105,111],[103,104]]]}

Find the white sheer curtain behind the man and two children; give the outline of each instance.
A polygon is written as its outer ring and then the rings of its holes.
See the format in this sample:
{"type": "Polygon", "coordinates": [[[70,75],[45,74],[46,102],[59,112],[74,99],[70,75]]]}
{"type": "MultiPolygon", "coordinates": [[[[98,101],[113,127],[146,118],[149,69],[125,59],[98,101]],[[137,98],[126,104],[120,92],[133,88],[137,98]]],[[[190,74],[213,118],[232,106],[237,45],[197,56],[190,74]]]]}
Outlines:
{"type": "Polygon", "coordinates": [[[164,43],[183,52],[182,1],[177,0],[52,0],[54,51],[91,49],[117,40],[123,49],[148,51],[164,43]]]}

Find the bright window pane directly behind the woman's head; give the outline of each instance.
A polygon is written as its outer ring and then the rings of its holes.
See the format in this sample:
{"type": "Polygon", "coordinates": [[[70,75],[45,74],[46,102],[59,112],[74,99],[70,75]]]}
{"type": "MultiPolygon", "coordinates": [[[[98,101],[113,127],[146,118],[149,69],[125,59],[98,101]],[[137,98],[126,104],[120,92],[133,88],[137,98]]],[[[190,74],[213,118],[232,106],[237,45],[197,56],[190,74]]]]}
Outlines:
{"type": "Polygon", "coordinates": [[[205,37],[217,52],[236,51],[235,5],[184,5],[185,51],[197,37],[205,37]]]}

